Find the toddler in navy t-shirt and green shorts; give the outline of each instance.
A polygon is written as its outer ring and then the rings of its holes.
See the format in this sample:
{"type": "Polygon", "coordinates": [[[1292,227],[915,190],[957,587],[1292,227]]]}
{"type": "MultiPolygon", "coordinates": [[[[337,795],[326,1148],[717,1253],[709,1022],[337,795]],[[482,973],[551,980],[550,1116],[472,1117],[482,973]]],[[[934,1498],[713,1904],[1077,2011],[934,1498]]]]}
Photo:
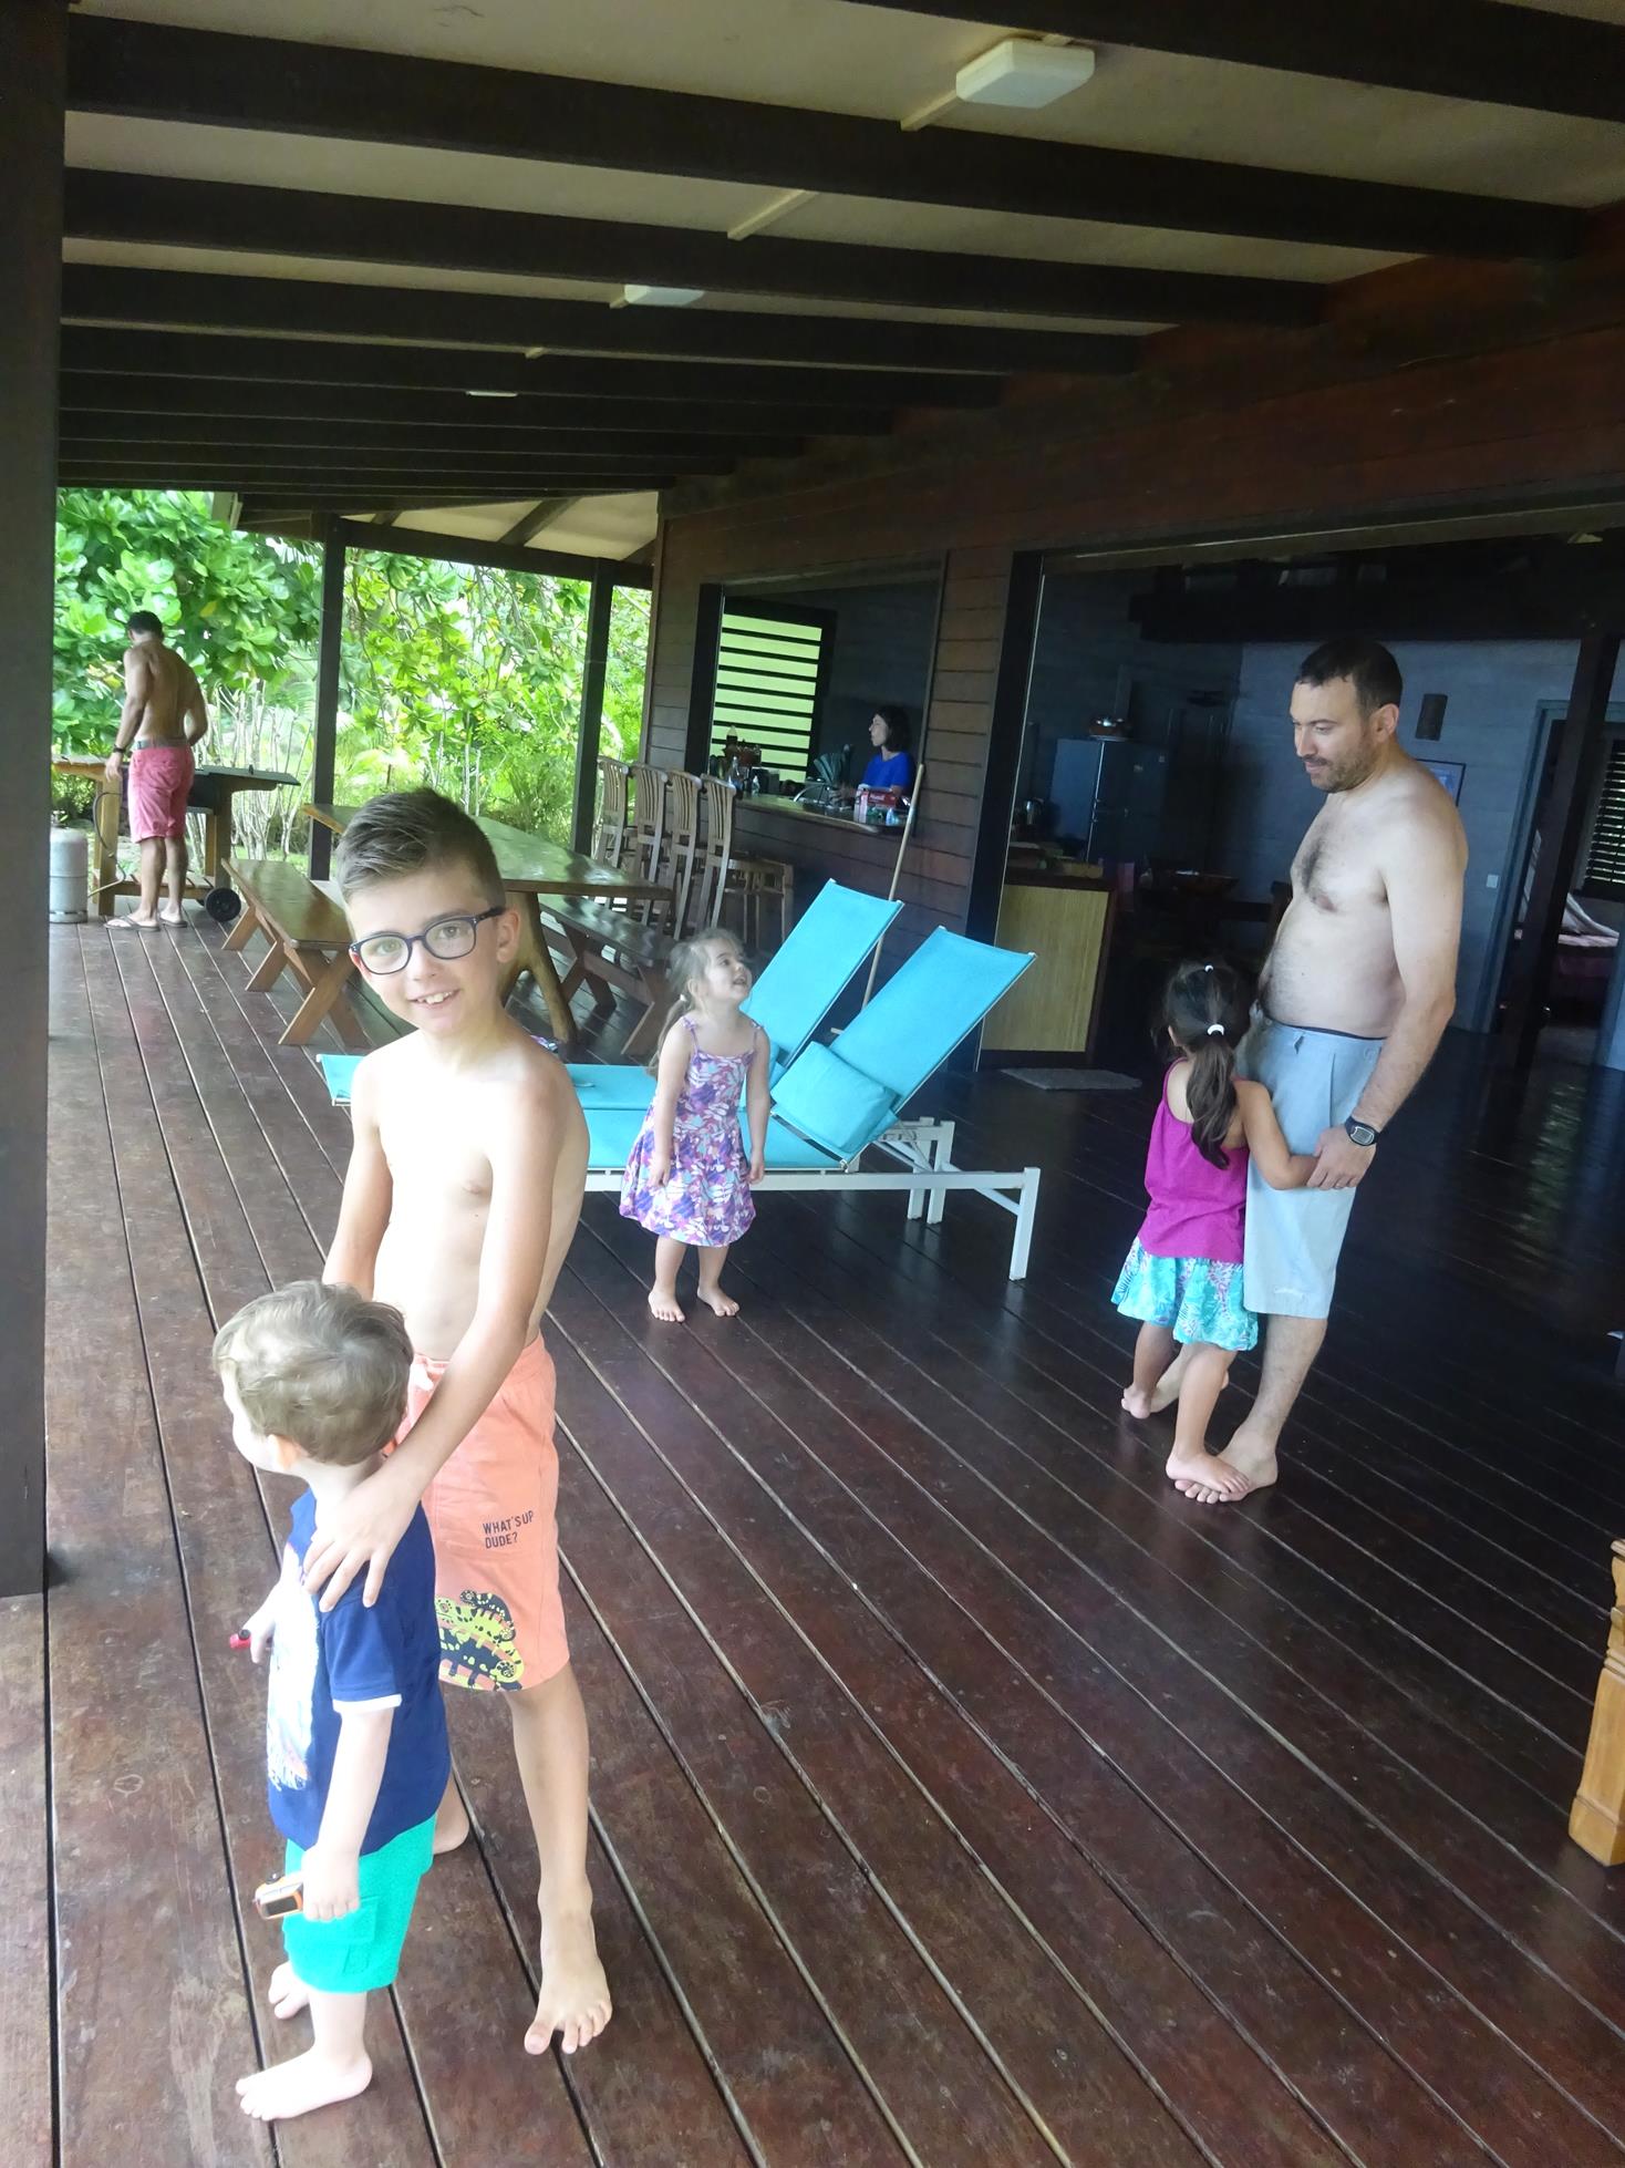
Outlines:
{"type": "Polygon", "coordinates": [[[301,1587],[318,1524],[401,1429],[412,1340],[399,1309],[297,1281],[238,1309],[214,1368],[238,1453],[308,1485],[282,1576],[245,1626],[256,1663],[271,1648],[266,1791],[286,1871],[303,1880],[303,1910],[282,1923],[288,1962],[271,1975],[271,2008],[286,2018],[310,2005],[314,2029],[303,2055],[238,2081],[245,2114],[271,2122],[349,2101],[373,2075],[366,1997],[394,1979],[451,1752],[422,1507],[375,1604],[362,1602],[360,1578],[332,1611],[301,1587]]]}

